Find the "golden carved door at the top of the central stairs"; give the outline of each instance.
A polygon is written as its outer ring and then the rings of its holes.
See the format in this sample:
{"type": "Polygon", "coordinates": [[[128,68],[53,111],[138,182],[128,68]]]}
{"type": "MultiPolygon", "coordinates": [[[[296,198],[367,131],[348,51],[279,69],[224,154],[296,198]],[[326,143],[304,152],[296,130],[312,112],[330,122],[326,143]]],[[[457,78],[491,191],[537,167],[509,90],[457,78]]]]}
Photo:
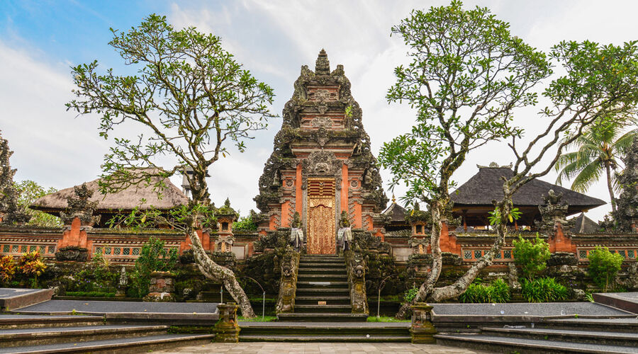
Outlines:
{"type": "Polygon", "coordinates": [[[308,179],[308,254],[334,254],[335,179],[308,179]]]}

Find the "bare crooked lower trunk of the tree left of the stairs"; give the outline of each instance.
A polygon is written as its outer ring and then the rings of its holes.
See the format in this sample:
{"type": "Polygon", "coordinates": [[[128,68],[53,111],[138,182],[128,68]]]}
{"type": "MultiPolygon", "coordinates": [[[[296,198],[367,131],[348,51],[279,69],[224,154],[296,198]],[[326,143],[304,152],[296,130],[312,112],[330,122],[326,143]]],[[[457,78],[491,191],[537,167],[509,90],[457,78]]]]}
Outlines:
{"type": "Polygon", "coordinates": [[[194,228],[191,228],[189,231],[189,238],[191,239],[191,244],[193,244],[193,253],[195,255],[195,260],[197,262],[197,266],[201,273],[206,276],[206,278],[220,281],[223,283],[223,286],[226,287],[226,290],[230,292],[230,296],[233,297],[235,302],[239,305],[242,310],[242,316],[252,318],[254,317],[254,312],[252,311],[252,305],[250,304],[250,300],[246,296],[246,293],[240,286],[239,282],[235,278],[235,273],[232,270],[222,267],[217,263],[213,262],[213,260],[208,257],[206,252],[201,245],[201,241],[197,236],[197,233],[194,231],[194,228]]]}

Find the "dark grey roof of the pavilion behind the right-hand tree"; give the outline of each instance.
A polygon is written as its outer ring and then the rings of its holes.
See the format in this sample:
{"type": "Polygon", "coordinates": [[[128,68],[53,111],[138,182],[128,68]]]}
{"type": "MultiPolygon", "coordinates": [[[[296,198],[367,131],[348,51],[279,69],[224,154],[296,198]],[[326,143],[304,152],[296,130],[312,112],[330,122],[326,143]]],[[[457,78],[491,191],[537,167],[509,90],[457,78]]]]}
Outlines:
{"type": "MultiPolygon", "coordinates": [[[[507,167],[480,167],[478,173],[450,194],[450,199],[455,206],[491,206],[492,200],[499,200],[503,197],[503,178],[501,177],[509,178],[513,175],[514,171],[507,167]]],[[[550,189],[556,193],[563,193],[563,200],[570,207],[589,209],[605,204],[603,200],[598,198],[591,198],[588,195],[539,179],[534,179],[523,185],[513,195],[512,201],[517,207],[541,205],[544,203],[543,196],[547,195],[550,189]]]]}

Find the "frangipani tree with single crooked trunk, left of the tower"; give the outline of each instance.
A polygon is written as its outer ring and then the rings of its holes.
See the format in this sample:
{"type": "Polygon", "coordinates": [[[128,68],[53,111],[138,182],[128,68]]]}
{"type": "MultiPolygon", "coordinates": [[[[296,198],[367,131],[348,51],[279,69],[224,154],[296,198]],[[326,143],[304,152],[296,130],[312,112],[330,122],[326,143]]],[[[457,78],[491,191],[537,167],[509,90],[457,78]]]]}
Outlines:
{"type": "Polygon", "coordinates": [[[109,45],[136,74],[99,73],[97,61],[73,67],[76,98],[67,103],[79,114],[101,115],[105,139],[123,133],[119,125],[143,130],[136,139],[113,139],[103,164],[103,193],[152,181],[161,193],[162,179],[192,171],[186,174],[192,200],[169,217],[189,235],[201,272],[223,282],[244,316],[254,316],[235,275],[206,255],[196,229],[214,215],[208,169],[230,144],[243,152],[252,132],[267,127],[275,116],[269,111],[272,88],[243,69],[219,37],[192,27],[176,30],[163,16],[150,15],[125,33],[111,31],[109,45]]]}

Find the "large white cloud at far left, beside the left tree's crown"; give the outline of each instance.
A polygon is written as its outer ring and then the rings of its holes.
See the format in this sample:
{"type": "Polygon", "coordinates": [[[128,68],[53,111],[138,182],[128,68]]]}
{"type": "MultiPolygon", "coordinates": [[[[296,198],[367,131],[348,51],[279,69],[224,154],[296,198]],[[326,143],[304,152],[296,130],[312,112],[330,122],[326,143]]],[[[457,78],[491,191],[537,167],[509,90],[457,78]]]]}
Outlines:
{"type": "Polygon", "coordinates": [[[14,152],[15,178],[56,188],[94,179],[106,150],[96,122],[65,111],[68,67],[35,55],[0,41],[0,129],[14,152]]]}

